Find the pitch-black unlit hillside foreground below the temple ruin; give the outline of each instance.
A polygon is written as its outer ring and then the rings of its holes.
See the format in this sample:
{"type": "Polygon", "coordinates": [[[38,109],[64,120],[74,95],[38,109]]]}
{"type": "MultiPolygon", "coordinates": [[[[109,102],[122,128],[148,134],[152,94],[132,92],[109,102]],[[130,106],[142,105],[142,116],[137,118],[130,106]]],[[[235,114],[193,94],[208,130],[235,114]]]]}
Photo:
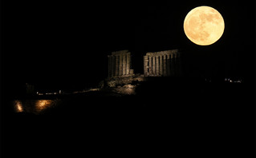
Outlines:
{"type": "Polygon", "coordinates": [[[137,87],[136,95],[70,95],[42,115],[6,116],[3,150],[9,157],[35,157],[42,150],[45,156],[76,156],[152,149],[199,157],[238,151],[242,156],[254,147],[244,145],[254,140],[245,91],[244,84],[152,77],[137,87]]]}

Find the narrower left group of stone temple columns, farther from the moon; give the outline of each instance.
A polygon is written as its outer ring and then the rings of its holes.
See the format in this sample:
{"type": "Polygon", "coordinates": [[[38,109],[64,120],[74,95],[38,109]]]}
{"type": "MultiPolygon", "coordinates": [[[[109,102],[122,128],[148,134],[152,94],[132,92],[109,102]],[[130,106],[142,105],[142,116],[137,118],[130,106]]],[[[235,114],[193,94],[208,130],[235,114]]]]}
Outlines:
{"type": "Polygon", "coordinates": [[[128,50],[112,52],[108,55],[108,77],[131,74],[131,53],[128,50]]]}

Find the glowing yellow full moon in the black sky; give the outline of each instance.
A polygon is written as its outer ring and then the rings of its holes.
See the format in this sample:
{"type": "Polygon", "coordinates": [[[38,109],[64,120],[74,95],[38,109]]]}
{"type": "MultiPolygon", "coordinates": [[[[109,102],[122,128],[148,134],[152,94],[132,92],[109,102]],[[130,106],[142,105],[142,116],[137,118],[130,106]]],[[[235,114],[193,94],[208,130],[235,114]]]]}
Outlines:
{"type": "Polygon", "coordinates": [[[221,38],[224,32],[221,14],[209,6],[198,6],[190,10],[184,20],[187,38],[197,45],[211,45],[221,38]]]}

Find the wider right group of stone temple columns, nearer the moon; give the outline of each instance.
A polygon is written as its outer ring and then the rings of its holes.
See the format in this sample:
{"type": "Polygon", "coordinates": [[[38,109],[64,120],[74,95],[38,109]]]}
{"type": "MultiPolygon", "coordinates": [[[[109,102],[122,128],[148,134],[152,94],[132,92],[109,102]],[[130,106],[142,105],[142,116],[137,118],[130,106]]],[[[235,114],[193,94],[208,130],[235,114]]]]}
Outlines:
{"type": "Polygon", "coordinates": [[[146,53],[144,56],[144,77],[181,75],[180,54],[178,49],[146,53]]]}

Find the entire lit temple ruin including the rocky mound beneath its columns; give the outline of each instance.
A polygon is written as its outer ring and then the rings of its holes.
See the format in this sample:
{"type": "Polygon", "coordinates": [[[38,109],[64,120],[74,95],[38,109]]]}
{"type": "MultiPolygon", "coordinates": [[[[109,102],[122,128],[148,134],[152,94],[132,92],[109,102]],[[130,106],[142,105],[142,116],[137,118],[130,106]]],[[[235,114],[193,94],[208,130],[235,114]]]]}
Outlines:
{"type": "MultiPolygon", "coordinates": [[[[108,77],[104,86],[112,92],[135,94],[142,82],[160,77],[181,76],[181,53],[178,49],[146,53],[144,55],[144,74],[134,74],[132,57],[128,50],[112,52],[108,55],[108,77]]],[[[166,78],[165,78],[166,79],[166,78]]]]}

